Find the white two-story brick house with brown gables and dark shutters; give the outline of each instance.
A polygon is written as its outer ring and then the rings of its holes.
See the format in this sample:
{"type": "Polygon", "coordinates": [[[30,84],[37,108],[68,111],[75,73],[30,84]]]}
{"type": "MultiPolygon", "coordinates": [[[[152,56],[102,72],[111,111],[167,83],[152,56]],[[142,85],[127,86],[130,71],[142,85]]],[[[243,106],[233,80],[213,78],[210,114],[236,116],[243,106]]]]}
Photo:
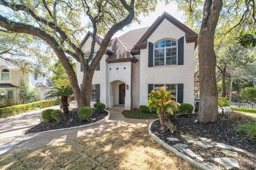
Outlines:
{"type": "MultiPolygon", "coordinates": [[[[92,79],[91,105],[107,108],[124,105],[125,109],[147,105],[148,93],[165,86],[176,101],[194,105],[194,49],[198,35],[164,12],[148,28],[131,30],[110,41],[92,79]]],[[[101,40],[97,37],[96,51],[101,40]]],[[[90,52],[92,33],[80,44],[90,52]]],[[[77,63],[78,83],[82,70],[77,63]]]]}

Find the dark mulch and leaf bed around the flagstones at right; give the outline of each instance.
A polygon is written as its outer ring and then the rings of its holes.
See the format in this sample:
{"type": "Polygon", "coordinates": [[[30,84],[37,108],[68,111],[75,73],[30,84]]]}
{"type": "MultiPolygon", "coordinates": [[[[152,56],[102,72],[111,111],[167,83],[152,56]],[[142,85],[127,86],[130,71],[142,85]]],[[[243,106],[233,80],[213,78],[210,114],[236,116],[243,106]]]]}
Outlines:
{"type": "MultiPolygon", "coordinates": [[[[234,146],[236,148],[243,149],[244,152],[238,152],[238,157],[234,157],[238,160],[241,170],[255,170],[256,169],[256,140],[242,140],[242,134],[235,132],[234,127],[238,125],[239,122],[232,121],[228,119],[228,116],[220,115],[219,122],[210,123],[194,123],[197,114],[192,114],[190,116],[177,116],[172,123],[177,127],[174,133],[170,133],[170,130],[165,130],[161,125],[160,121],[155,121],[152,123],[151,131],[156,134],[164,142],[168,143],[170,146],[179,143],[186,143],[181,137],[181,134],[200,140],[200,138],[210,138],[211,142],[220,142],[234,146]],[[168,137],[178,138],[179,141],[167,140],[168,137]]],[[[204,149],[197,144],[187,144],[188,148],[204,158],[204,162],[214,162],[214,158],[227,157],[225,154],[220,152],[222,148],[213,147],[210,149],[204,149]]],[[[234,151],[234,150],[232,150],[234,151]]]]}

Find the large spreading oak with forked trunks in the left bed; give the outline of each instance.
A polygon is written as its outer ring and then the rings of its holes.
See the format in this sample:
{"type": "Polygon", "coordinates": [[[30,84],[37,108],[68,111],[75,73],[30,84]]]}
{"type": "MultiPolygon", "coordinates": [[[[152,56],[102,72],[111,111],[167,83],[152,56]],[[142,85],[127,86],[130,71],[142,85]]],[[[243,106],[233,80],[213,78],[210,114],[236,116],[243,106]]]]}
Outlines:
{"type": "Polygon", "coordinates": [[[65,68],[78,108],[90,106],[94,70],[106,53],[112,36],[140,14],[155,9],[156,0],[0,0],[0,29],[24,33],[46,42],[65,68]],[[89,19],[86,26],[81,21],[89,19]],[[85,58],[79,43],[86,28],[93,31],[91,52],[85,58]],[[103,36],[93,57],[97,36],[103,36]],[[80,62],[83,70],[81,89],[69,57],[80,62]],[[88,62],[91,61],[90,65],[88,62]]]}

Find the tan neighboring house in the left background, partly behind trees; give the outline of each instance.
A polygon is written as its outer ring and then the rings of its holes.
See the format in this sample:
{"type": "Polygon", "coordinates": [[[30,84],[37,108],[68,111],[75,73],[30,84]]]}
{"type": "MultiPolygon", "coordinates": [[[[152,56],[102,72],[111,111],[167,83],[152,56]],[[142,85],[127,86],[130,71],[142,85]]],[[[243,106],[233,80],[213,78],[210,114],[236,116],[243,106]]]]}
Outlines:
{"type": "Polygon", "coordinates": [[[29,75],[26,75],[17,65],[2,58],[0,58],[0,72],[0,106],[4,106],[3,95],[8,95],[13,99],[12,105],[22,103],[22,101],[18,99],[20,79],[26,79],[30,87],[37,90],[38,96],[36,97],[36,100],[45,99],[45,91],[50,89],[54,84],[53,81],[47,78],[48,73],[42,72],[41,75],[30,73],[29,75]]]}

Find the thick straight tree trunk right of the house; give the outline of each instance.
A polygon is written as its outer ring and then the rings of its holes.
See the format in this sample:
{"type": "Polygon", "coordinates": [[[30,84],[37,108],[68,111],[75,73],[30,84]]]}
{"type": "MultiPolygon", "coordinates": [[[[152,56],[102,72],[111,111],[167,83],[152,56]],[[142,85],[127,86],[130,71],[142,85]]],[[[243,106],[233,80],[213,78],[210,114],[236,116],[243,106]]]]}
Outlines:
{"type": "Polygon", "coordinates": [[[197,119],[204,123],[218,121],[219,118],[214,34],[221,8],[222,0],[205,0],[202,25],[198,35],[200,105],[197,119]]]}

